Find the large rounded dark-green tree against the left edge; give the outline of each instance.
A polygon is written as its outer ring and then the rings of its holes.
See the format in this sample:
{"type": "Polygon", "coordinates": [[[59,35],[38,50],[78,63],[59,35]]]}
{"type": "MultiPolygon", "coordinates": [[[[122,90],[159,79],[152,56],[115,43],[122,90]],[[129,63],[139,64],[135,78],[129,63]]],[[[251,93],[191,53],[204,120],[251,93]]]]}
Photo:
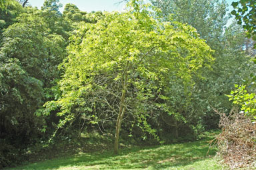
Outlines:
{"type": "MultiPolygon", "coordinates": [[[[0,48],[0,143],[19,154],[45,136],[41,132],[45,119],[35,111],[52,99],[49,88],[59,78],[57,65],[65,56],[65,40],[51,33],[35,10],[28,8],[5,29],[0,48]]],[[[7,154],[15,155],[12,152],[7,154]]],[[[6,160],[7,164],[15,161],[6,160]]]]}

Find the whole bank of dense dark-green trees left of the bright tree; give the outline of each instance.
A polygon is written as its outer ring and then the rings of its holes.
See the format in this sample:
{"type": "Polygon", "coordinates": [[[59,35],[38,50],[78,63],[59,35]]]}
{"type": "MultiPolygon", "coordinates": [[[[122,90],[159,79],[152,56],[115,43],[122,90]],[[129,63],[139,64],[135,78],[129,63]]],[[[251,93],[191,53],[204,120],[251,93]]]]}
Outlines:
{"type": "Polygon", "coordinates": [[[35,114],[58,93],[52,87],[74,29],[58,7],[58,1],[45,1],[42,10],[10,1],[0,9],[0,167],[22,160],[27,146],[47,139],[59,120],[35,114]]]}

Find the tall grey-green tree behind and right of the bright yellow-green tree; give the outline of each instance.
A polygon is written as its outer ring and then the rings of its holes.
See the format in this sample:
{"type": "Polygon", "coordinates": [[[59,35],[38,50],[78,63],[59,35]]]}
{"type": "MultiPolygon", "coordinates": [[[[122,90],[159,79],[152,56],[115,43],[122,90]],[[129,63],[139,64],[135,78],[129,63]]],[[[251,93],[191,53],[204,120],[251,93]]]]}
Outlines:
{"type": "MultiPolygon", "coordinates": [[[[203,127],[206,129],[217,128],[219,117],[211,107],[228,113],[231,109],[231,103],[227,100],[225,94],[230,93],[233,83],[241,84],[242,78],[247,77],[252,69],[245,66],[250,59],[243,50],[246,44],[243,29],[237,29],[235,23],[229,28],[225,28],[229,19],[229,15],[226,13],[227,3],[225,1],[152,0],[151,2],[161,9],[165,20],[174,19],[195,27],[211,49],[215,50],[213,70],[204,71],[202,75],[205,78],[203,79],[193,78],[195,84],[191,89],[190,99],[181,97],[179,101],[175,101],[174,99],[182,96],[180,92],[174,97],[173,102],[176,103],[175,106],[180,105],[179,109],[176,108],[175,111],[182,111],[183,115],[187,115],[187,117],[196,115],[189,123],[193,124],[194,129],[197,129],[195,127],[202,130],[203,127]],[[241,37],[241,39],[237,39],[238,41],[235,43],[231,39],[234,37],[241,37]],[[231,47],[231,45],[235,46],[231,47]],[[237,49],[237,47],[239,48],[237,49]],[[241,61],[244,64],[241,64],[241,61]],[[246,70],[237,69],[241,67],[246,70]]],[[[177,79],[173,81],[179,82],[177,79]]],[[[177,84],[175,86],[181,85],[177,84]]]]}

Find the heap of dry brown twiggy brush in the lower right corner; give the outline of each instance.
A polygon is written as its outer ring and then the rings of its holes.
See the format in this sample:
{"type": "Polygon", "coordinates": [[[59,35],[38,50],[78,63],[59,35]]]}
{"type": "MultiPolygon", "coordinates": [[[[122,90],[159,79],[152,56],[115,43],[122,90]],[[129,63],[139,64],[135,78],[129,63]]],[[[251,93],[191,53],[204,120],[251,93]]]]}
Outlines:
{"type": "Polygon", "coordinates": [[[219,127],[222,129],[215,139],[219,155],[231,169],[256,167],[256,123],[238,109],[232,109],[228,116],[216,113],[220,115],[219,127]]]}

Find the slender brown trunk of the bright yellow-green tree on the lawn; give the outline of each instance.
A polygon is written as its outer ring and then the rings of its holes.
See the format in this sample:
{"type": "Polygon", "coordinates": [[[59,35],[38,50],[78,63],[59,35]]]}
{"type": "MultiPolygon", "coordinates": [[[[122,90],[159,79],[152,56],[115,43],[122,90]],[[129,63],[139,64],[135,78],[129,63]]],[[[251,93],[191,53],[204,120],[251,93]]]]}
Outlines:
{"type": "Polygon", "coordinates": [[[127,91],[127,69],[128,69],[129,61],[127,61],[127,65],[125,68],[124,72],[124,77],[123,77],[123,89],[122,89],[122,95],[121,95],[121,100],[120,100],[120,105],[119,105],[119,114],[117,117],[117,124],[115,126],[115,144],[114,144],[114,153],[118,154],[118,146],[119,146],[119,133],[121,130],[121,121],[123,119],[123,115],[125,114],[125,94],[127,91]]]}

